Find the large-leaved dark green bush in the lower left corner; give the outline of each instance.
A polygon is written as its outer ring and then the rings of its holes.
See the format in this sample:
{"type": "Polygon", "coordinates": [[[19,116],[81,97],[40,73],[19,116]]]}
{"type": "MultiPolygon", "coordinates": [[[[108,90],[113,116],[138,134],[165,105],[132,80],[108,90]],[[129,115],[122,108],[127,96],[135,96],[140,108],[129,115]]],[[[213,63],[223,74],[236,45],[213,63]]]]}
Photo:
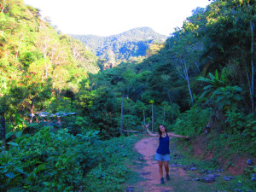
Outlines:
{"type": "Polygon", "coordinates": [[[70,191],[84,183],[83,175],[97,159],[90,146],[97,132],[73,136],[67,129],[44,127],[33,136],[17,138],[1,151],[0,186],[3,191],[70,191]]]}

